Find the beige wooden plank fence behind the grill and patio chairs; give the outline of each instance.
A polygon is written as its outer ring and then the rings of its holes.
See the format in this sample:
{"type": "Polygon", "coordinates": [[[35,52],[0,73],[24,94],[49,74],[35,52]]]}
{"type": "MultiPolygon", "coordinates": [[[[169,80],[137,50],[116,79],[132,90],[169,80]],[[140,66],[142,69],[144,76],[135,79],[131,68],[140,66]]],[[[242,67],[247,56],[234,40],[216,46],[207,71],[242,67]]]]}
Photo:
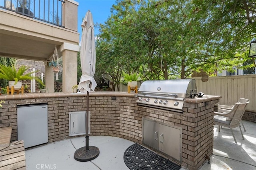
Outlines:
{"type": "MultiPolygon", "coordinates": [[[[220,104],[234,105],[239,98],[246,98],[250,100],[246,110],[256,111],[256,74],[209,77],[207,82],[202,82],[201,77],[194,79],[198,92],[222,96],[220,104]]],[[[120,91],[127,92],[127,86],[120,84],[120,91]]]]}

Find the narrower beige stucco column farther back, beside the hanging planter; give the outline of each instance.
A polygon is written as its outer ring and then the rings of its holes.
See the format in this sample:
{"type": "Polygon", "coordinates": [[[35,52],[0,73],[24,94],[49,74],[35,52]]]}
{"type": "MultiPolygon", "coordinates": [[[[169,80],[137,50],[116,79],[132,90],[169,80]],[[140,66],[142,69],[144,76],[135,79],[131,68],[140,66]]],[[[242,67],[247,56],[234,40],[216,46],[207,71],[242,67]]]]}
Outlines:
{"type": "Polygon", "coordinates": [[[45,65],[45,89],[46,93],[54,93],[54,72],[52,67],[49,67],[47,61],[44,62],[45,65]]]}

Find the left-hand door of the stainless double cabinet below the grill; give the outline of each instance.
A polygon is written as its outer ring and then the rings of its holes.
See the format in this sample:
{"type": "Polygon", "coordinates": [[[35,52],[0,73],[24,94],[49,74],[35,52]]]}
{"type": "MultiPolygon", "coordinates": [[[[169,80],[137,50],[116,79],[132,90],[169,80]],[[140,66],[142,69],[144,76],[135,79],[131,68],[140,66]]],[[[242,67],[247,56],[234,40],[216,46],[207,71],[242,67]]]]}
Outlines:
{"type": "Polygon", "coordinates": [[[154,149],[159,148],[159,123],[143,119],[143,143],[154,149]]]}

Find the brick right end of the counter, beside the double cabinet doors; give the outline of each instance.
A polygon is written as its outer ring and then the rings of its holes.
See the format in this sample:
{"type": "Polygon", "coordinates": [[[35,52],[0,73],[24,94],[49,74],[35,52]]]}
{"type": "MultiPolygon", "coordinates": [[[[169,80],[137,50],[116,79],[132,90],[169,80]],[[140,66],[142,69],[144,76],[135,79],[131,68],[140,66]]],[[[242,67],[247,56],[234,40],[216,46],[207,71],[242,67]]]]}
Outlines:
{"type": "MultiPolygon", "coordinates": [[[[182,166],[194,170],[213,153],[213,111],[219,99],[198,104],[184,104],[182,126],[182,166]]],[[[178,115],[175,115],[175,118],[178,115]]]]}

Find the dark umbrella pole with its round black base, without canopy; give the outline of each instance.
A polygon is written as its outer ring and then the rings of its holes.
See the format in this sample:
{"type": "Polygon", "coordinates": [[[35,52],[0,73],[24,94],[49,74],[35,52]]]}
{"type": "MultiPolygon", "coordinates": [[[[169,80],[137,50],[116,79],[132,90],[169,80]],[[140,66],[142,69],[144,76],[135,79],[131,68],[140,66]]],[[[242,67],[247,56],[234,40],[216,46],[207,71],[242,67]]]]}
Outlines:
{"type": "MultiPolygon", "coordinates": [[[[90,82],[91,87],[92,82],[90,82]]],[[[89,146],[89,92],[86,94],[86,136],[85,136],[85,147],[79,148],[74,153],[75,160],[80,162],[86,162],[94,160],[100,154],[100,150],[97,147],[89,146]]]]}

